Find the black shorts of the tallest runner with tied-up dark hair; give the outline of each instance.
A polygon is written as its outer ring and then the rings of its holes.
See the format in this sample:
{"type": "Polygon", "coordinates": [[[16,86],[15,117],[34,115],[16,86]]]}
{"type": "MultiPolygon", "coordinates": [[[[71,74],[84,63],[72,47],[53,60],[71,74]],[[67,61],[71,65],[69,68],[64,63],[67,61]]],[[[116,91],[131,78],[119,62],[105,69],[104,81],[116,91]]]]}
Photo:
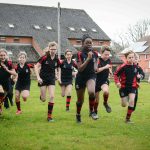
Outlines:
{"type": "Polygon", "coordinates": [[[94,81],[96,81],[96,75],[91,75],[87,78],[78,74],[75,80],[75,89],[79,90],[79,89],[85,88],[87,81],[90,79],[93,79],[94,81]]]}

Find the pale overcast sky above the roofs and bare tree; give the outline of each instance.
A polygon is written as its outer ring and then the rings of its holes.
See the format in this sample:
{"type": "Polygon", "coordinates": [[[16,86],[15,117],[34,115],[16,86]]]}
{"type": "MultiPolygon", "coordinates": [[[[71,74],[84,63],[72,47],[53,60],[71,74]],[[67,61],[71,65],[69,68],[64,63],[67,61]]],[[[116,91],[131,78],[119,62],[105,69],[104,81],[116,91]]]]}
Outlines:
{"type": "Polygon", "coordinates": [[[0,3],[84,9],[113,40],[125,32],[129,24],[150,19],[150,0],[0,0],[0,3]]]}

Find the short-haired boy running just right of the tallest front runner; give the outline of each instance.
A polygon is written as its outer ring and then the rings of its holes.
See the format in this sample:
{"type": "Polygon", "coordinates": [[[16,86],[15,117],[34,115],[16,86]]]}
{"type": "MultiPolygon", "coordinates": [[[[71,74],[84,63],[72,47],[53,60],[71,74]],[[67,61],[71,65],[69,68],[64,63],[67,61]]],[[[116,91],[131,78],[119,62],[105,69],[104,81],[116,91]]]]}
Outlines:
{"type": "MultiPolygon", "coordinates": [[[[96,101],[94,104],[94,112],[97,114],[99,104],[99,92],[103,91],[103,105],[108,113],[111,112],[111,107],[108,105],[109,97],[109,74],[111,73],[111,60],[110,60],[110,48],[103,46],[101,49],[101,57],[99,58],[97,77],[96,77],[96,101]]],[[[97,119],[98,119],[98,115],[97,119]]]]}

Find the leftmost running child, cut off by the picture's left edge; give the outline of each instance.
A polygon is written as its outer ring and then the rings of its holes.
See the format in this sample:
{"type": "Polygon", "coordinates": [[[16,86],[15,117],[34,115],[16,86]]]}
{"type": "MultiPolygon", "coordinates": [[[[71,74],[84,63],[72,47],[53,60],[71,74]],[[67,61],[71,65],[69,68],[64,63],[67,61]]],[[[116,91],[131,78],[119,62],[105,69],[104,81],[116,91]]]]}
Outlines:
{"type": "Polygon", "coordinates": [[[12,62],[7,60],[7,51],[0,49],[0,114],[2,113],[2,104],[9,91],[10,76],[16,76],[12,62]]]}

